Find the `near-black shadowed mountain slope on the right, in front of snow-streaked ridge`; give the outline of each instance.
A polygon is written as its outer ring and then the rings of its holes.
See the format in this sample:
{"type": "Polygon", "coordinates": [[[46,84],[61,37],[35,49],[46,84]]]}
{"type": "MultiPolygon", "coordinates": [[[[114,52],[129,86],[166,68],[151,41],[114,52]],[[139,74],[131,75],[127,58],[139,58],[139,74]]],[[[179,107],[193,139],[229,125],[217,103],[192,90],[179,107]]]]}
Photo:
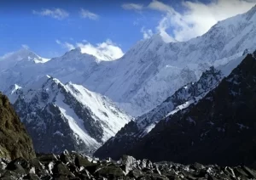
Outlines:
{"type": "Polygon", "coordinates": [[[255,166],[256,52],[197,104],[160,121],[130,151],[150,160],[255,166]]]}

